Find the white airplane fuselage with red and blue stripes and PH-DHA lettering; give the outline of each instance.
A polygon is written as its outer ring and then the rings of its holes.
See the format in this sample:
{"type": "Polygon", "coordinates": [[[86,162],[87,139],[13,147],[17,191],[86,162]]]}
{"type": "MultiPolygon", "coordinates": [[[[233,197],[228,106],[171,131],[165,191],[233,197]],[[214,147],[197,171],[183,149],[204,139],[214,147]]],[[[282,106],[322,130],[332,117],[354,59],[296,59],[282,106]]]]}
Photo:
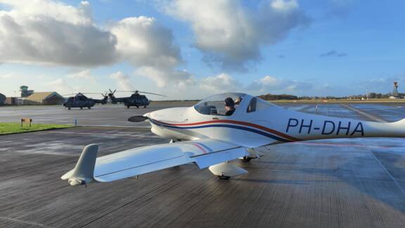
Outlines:
{"type": "MultiPolygon", "coordinates": [[[[247,98],[245,98],[247,99],[247,98]]],[[[152,132],[177,140],[217,139],[250,147],[311,139],[404,137],[394,123],[311,115],[280,106],[247,113],[248,102],[231,116],[203,115],[195,107],[147,113],[152,132]]]]}

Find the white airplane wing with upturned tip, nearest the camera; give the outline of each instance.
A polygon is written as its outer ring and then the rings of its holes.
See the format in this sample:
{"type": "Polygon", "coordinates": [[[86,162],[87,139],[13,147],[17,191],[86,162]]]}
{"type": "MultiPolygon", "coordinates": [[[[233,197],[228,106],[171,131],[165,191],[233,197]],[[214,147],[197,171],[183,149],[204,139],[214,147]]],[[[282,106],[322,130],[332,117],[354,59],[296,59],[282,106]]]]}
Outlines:
{"type": "Polygon", "coordinates": [[[112,182],[186,163],[203,169],[249,155],[243,146],[213,139],[131,148],[100,158],[97,151],[97,144],[86,146],[76,167],[61,178],[71,185],[112,182]]]}

